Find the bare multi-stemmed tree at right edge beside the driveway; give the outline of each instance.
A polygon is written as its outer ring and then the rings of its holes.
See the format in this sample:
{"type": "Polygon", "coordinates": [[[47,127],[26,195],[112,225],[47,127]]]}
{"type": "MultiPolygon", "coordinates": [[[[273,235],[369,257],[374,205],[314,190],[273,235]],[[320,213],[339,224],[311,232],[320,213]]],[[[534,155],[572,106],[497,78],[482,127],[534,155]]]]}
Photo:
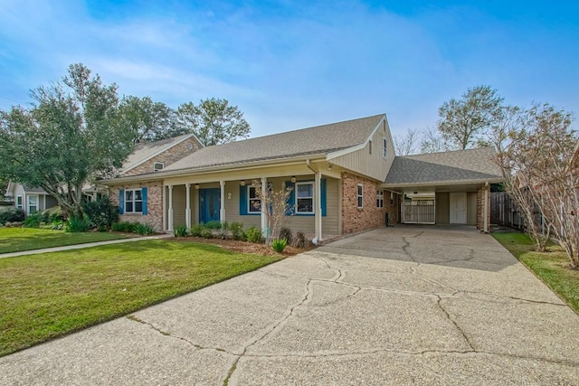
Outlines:
{"type": "Polygon", "coordinates": [[[573,117],[548,104],[529,108],[521,127],[510,128],[509,144],[498,153],[507,191],[521,206],[536,248],[545,249],[549,231],[579,268],[579,151],[573,117]],[[546,234],[536,213],[545,221],[546,234]]]}

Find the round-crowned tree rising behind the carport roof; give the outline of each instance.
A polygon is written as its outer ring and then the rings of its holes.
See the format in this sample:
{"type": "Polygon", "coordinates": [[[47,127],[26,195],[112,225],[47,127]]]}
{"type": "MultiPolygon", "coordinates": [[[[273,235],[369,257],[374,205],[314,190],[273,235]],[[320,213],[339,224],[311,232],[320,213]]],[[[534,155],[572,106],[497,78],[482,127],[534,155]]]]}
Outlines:
{"type": "Polygon", "coordinates": [[[485,130],[500,117],[502,102],[497,90],[489,86],[467,89],[460,99],[444,102],[438,110],[442,138],[459,149],[479,144],[485,130]]]}

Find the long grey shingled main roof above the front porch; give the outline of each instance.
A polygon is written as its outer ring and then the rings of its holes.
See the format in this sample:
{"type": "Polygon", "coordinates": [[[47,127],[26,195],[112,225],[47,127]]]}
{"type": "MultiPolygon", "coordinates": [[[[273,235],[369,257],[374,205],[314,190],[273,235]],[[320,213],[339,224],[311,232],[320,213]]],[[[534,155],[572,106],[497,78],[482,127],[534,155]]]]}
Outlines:
{"type": "Polygon", "coordinates": [[[223,145],[207,146],[169,165],[164,172],[220,165],[242,165],[304,155],[327,155],[337,150],[364,144],[383,118],[384,114],[380,114],[223,145]]]}

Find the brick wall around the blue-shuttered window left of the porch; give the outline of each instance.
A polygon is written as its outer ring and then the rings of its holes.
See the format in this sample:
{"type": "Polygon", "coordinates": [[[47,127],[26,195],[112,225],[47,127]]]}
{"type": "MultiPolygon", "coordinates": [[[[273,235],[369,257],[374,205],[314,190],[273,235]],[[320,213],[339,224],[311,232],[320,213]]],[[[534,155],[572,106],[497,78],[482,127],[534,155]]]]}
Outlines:
{"type": "Polygon", "coordinates": [[[109,187],[110,201],[113,205],[119,206],[119,189],[140,189],[142,187],[147,187],[147,215],[125,213],[119,215],[119,221],[150,224],[155,231],[161,232],[163,231],[163,181],[109,187]]]}

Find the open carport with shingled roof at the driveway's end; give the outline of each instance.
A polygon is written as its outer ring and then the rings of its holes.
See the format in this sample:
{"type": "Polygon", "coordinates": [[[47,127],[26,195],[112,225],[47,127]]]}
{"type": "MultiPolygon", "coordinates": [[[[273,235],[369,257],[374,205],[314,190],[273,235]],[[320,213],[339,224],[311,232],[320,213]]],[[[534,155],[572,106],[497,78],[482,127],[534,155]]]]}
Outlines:
{"type": "Polygon", "coordinates": [[[400,221],[489,231],[490,184],[502,174],[493,147],[394,158],[382,188],[400,196],[400,221]],[[487,213],[484,216],[483,213],[487,213]]]}

